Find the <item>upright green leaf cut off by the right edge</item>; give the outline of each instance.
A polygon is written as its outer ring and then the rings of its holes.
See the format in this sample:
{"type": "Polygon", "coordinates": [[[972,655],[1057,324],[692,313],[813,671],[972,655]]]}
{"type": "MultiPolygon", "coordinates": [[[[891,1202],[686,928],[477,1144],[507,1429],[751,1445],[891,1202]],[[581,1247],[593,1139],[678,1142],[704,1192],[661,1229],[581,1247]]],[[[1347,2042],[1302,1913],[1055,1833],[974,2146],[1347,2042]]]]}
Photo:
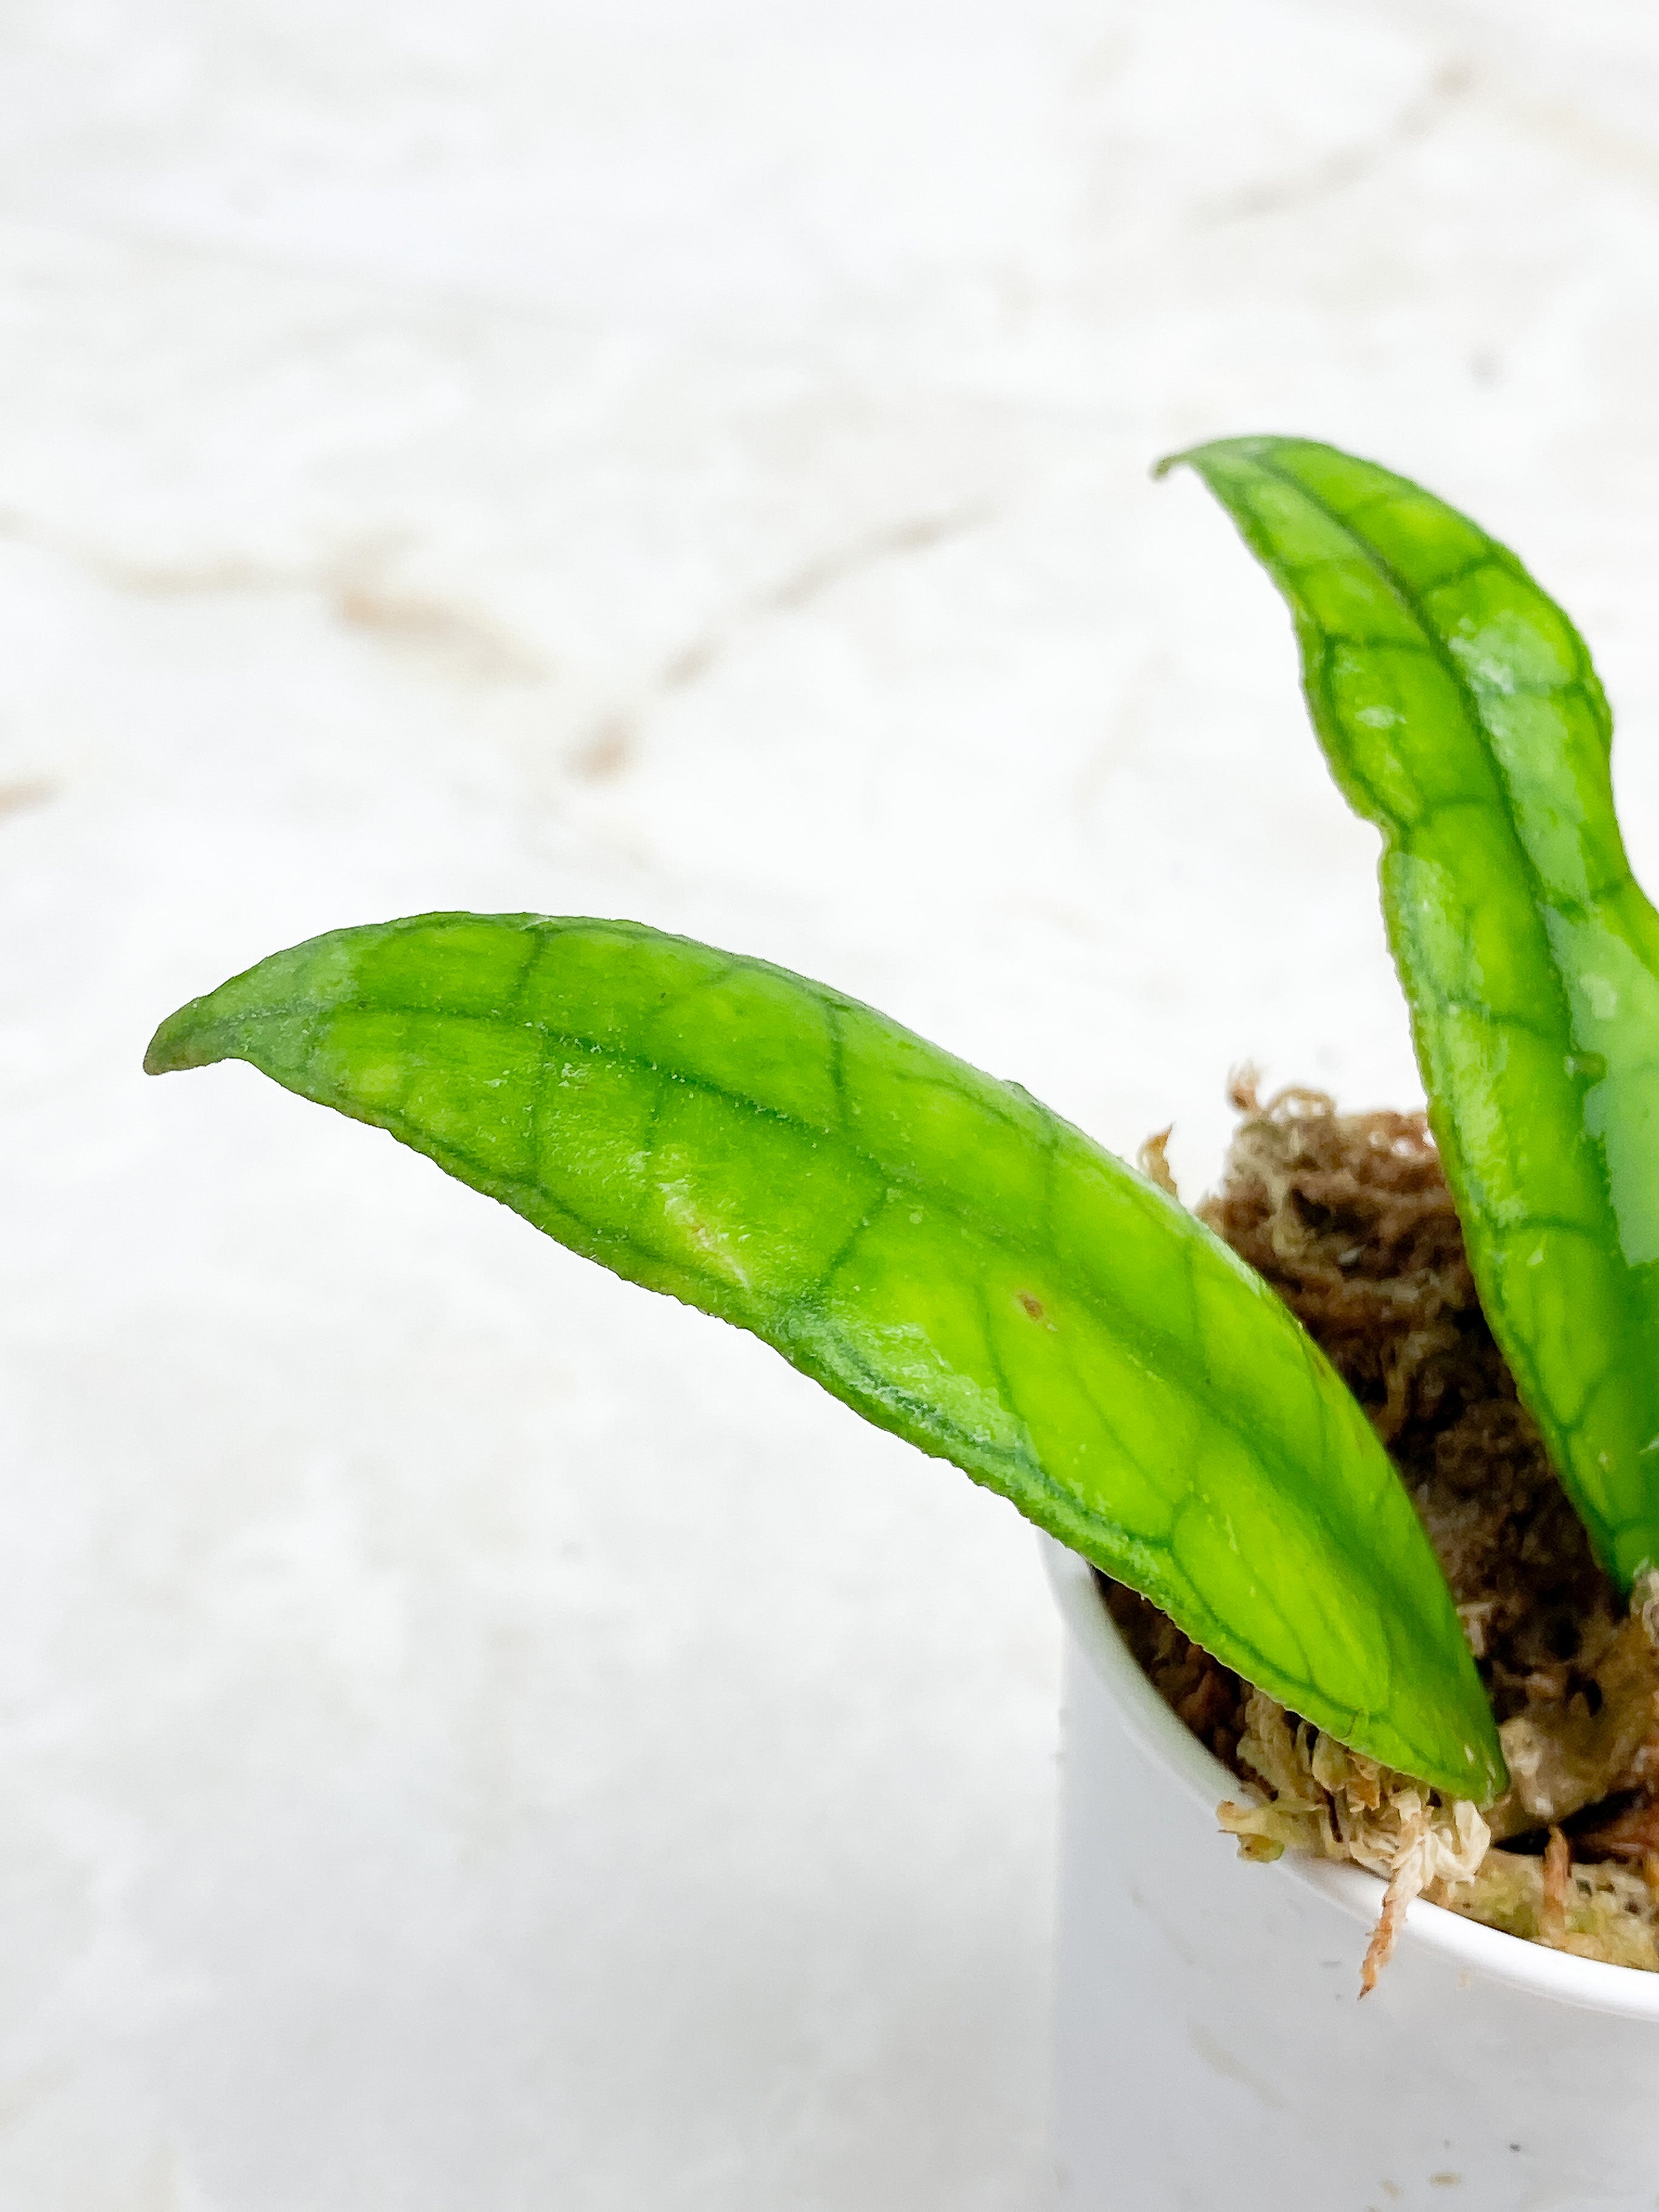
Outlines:
{"type": "Polygon", "coordinates": [[[1290,602],[1493,1334],[1613,1575],[1659,1562],[1659,916],[1573,624],[1402,476],[1303,438],[1179,453],[1290,602]]]}

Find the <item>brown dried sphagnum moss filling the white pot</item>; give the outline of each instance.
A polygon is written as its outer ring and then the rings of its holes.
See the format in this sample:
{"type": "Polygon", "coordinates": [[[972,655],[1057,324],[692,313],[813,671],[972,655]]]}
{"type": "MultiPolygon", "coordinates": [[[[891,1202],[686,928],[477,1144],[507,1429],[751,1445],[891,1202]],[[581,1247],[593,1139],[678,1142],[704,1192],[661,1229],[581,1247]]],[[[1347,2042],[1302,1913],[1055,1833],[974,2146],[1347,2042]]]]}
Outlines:
{"type": "MultiPolygon", "coordinates": [[[[1243,1781],[1250,1803],[1223,1805],[1221,1823],[1245,1856],[1305,1849],[1387,1878],[1365,1989],[1420,1891],[1511,1936],[1659,1971],[1659,1595],[1626,1613],[1590,1555],[1480,1312],[1422,1115],[1338,1115],[1318,1091],[1263,1106],[1250,1075],[1234,1104],[1201,1214],[1318,1338],[1394,1453],[1513,1787],[1482,1818],[1345,1752],[1130,1590],[1108,1586],[1113,1617],[1243,1781]]],[[[1141,1166],[1172,1190],[1166,1137],[1141,1166]]]]}

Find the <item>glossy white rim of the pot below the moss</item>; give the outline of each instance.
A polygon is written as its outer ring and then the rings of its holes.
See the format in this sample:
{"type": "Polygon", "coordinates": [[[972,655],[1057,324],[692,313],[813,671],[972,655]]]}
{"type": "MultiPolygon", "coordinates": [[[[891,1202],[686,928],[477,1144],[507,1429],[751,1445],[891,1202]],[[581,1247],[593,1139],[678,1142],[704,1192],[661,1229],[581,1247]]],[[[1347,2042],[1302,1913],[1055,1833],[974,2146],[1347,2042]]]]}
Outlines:
{"type": "MultiPolygon", "coordinates": [[[[1095,1679],[1117,1705],[1124,1728],[1148,1759],[1172,1774],[1208,1814],[1214,1814],[1221,1798],[1237,1792],[1237,1776],[1199,1743],[1141,1674],[1106,1610],[1095,1568],[1051,1535],[1042,1535],[1042,1555],[1060,1615],[1095,1679]]],[[[1305,1851],[1285,1851],[1276,1865],[1263,1867],[1261,1874],[1265,1880],[1276,1876],[1316,1889],[1354,1920],[1376,1927],[1383,1878],[1367,1874],[1365,1867],[1334,1858],[1310,1858],[1305,1851]]],[[[1411,1900],[1400,1940],[1420,1942],[1453,1960],[1462,1973],[1506,1982],[1533,1997],[1573,2004],[1588,2013],[1617,2013],[1624,2020],[1659,2020],[1659,1973],[1644,1973],[1639,1966],[1608,1966],[1595,1958],[1573,1958],[1571,1951],[1551,1951],[1522,1936],[1504,1936],[1478,1920],[1464,1920],[1442,1905],[1429,1905],[1427,1898],[1411,1900]]]]}

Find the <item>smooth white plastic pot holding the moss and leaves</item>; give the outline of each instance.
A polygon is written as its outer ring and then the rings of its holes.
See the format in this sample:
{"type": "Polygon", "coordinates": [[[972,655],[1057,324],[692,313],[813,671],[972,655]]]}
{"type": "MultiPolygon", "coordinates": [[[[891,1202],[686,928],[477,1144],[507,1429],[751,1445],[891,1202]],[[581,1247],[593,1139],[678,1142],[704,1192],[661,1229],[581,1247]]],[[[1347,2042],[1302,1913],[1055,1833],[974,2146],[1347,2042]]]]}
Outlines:
{"type": "Polygon", "coordinates": [[[1383,1885],[1217,1832],[1239,1796],[1088,1566],[1066,1619],[1055,2152],[1066,2212],[1655,2212],[1659,1975],[1416,1902],[1363,2004],[1383,1885]]]}

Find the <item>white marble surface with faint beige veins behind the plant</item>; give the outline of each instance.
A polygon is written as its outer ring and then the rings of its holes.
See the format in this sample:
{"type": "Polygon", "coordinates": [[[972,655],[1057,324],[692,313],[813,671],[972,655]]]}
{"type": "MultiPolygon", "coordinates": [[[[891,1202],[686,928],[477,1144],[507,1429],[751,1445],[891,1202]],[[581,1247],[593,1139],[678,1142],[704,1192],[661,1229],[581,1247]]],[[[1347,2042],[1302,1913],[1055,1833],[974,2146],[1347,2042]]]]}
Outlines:
{"type": "Polygon", "coordinates": [[[1652,9],[18,0],[0,102],[0,2208],[1037,2208],[1024,1528],[137,1060],[473,905],[1188,1183],[1248,1053],[1413,1095],[1285,624],[1146,469],[1307,429],[1515,540],[1659,874],[1652,9]]]}

